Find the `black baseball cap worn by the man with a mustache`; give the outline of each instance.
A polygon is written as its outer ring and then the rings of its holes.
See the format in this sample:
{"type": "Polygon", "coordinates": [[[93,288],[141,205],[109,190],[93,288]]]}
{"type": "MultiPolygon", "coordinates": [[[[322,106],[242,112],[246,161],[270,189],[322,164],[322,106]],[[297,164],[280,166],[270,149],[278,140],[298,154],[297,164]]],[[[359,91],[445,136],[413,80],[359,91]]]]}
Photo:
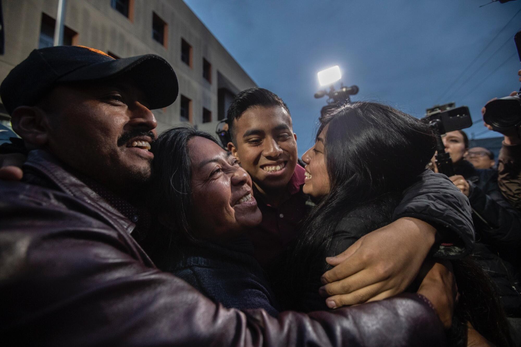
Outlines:
{"type": "Polygon", "coordinates": [[[0,96],[11,114],[18,106],[34,106],[60,82],[103,82],[120,76],[135,82],[150,109],[172,104],[179,92],[176,73],[158,55],[114,59],[90,47],[54,46],[34,49],[15,66],[0,85],[0,96]]]}

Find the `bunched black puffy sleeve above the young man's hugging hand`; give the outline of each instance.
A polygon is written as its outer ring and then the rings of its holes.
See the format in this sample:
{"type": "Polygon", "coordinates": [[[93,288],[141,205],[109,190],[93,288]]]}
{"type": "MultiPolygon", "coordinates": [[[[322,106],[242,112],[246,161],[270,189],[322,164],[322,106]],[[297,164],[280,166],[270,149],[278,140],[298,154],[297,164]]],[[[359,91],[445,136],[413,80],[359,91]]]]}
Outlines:
{"type": "Polygon", "coordinates": [[[474,246],[472,211],[465,195],[442,173],[425,170],[403,194],[394,218],[414,217],[438,230],[433,256],[455,259],[474,246]]]}

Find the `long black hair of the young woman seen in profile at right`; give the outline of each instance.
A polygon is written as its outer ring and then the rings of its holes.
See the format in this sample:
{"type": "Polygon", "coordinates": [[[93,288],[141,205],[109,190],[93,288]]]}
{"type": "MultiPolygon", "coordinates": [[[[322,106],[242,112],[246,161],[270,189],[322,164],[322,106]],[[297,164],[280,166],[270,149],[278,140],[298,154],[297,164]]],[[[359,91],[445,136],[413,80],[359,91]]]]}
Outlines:
{"type": "MultiPolygon", "coordinates": [[[[318,135],[326,129],[324,155],[330,193],[321,197],[302,222],[301,234],[289,255],[283,293],[289,306],[299,307],[300,293],[317,280],[316,254],[324,254],[344,215],[384,194],[402,192],[430,162],[435,138],[417,118],[390,106],[358,102],[332,109],[319,118],[318,135]],[[326,128],[327,127],[327,128],[326,128]],[[288,293],[291,293],[288,295],[288,293]]],[[[490,277],[471,256],[454,261],[461,300],[449,333],[452,345],[466,345],[466,324],[498,345],[510,345],[503,309],[490,277]],[[493,318],[497,324],[489,324],[493,318]],[[488,325],[487,325],[488,324],[488,325]]]]}

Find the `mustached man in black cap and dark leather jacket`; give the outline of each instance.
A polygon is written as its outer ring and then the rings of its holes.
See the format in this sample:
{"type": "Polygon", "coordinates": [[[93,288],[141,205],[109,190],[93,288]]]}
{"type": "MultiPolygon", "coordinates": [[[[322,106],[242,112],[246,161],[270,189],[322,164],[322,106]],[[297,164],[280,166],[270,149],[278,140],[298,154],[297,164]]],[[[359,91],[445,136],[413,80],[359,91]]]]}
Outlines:
{"type": "Polygon", "coordinates": [[[35,50],[4,80],[0,96],[31,151],[22,182],[0,181],[3,341],[443,343],[440,320],[421,295],[275,319],[226,309],[159,271],[135,241],[147,228],[136,205],[153,158],[150,109],[170,105],[177,93],[176,75],[159,56],[115,60],[80,46],[35,50]]]}

